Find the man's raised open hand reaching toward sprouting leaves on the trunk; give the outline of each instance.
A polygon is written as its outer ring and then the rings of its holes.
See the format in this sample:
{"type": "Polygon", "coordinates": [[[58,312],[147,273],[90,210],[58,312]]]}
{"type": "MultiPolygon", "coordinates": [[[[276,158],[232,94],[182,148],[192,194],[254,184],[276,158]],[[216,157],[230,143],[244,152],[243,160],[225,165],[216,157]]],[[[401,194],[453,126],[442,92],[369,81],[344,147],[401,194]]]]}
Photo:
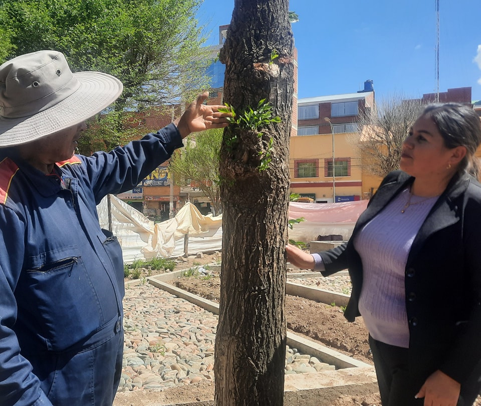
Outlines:
{"type": "Polygon", "coordinates": [[[174,121],[182,138],[185,138],[191,132],[223,128],[228,125],[227,117],[230,117],[231,114],[219,112],[219,108],[225,108],[223,105],[203,104],[208,96],[207,91],[200,94],[196,100],[189,104],[180,119],[174,121]]]}

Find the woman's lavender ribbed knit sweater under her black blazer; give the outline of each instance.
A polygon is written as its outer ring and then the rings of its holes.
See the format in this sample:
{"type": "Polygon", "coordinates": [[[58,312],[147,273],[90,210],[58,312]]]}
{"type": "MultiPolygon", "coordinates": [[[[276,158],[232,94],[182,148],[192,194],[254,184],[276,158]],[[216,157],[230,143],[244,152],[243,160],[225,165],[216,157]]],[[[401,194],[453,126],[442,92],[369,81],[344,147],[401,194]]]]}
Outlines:
{"type": "MultiPolygon", "coordinates": [[[[404,207],[409,189],[399,193],[358,233],[354,247],[363,267],[359,311],[371,336],[407,348],[404,271],[412,242],[437,197],[413,195],[404,207]],[[404,209],[404,213],[401,210],[404,209]]],[[[321,256],[313,254],[315,270],[323,270],[321,256]]]]}

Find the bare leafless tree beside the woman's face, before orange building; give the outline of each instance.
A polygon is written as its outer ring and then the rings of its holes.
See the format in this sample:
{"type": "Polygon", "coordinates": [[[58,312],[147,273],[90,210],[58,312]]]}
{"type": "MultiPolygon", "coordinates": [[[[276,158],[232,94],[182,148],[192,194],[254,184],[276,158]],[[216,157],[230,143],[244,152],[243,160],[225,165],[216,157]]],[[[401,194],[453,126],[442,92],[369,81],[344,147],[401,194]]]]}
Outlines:
{"type": "Polygon", "coordinates": [[[421,99],[404,99],[397,94],[381,100],[377,110],[366,109],[359,114],[362,166],[384,177],[399,168],[402,142],[421,109],[421,99]]]}

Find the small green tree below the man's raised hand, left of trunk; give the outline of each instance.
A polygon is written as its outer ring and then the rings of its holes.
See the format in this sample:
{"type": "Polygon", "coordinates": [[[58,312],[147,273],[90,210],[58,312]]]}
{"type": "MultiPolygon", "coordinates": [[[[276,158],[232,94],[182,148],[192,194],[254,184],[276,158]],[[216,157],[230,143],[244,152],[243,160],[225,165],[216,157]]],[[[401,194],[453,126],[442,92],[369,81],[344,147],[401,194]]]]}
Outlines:
{"type": "Polygon", "coordinates": [[[190,186],[192,182],[213,203],[214,214],[220,213],[219,150],[222,129],[210,129],[195,134],[185,147],[170,159],[175,184],[190,186]]]}

